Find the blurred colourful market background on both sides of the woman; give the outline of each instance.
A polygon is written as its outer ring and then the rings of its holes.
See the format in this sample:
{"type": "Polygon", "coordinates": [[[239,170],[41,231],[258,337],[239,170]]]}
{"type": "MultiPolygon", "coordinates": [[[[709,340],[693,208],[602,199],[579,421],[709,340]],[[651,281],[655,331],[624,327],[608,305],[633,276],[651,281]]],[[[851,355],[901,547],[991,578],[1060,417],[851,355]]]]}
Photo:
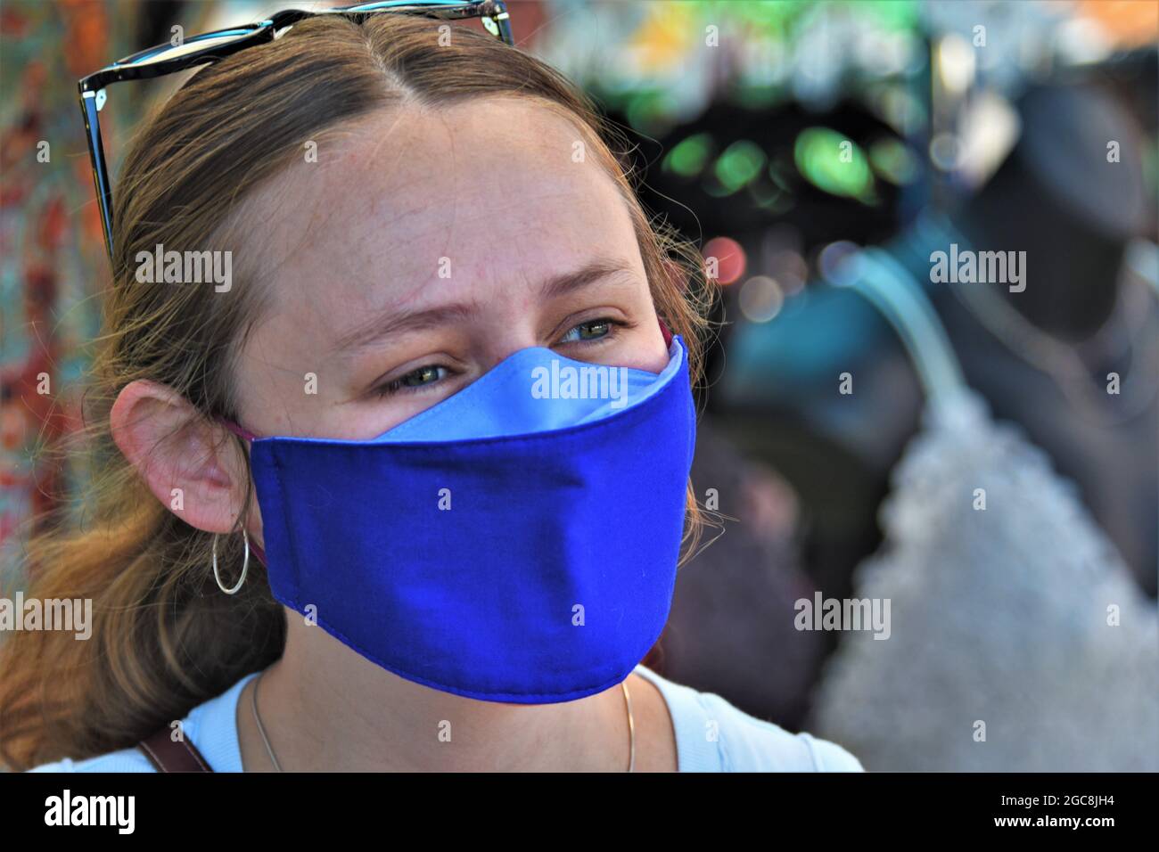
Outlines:
{"type": "MultiPolygon", "coordinates": [[[[107,270],[76,80],[282,6],[0,6],[0,548],[85,475],[41,458],[107,270]]],[[[509,7],[720,291],[723,526],[646,664],[869,770],[1159,770],[1159,2],[509,7]],[[969,252],[1021,281],[935,274],[969,252]],[[889,639],[801,629],[830,598],[889,639]]],[[[116,87],[114,176],[172,85],[116,87]]]]}

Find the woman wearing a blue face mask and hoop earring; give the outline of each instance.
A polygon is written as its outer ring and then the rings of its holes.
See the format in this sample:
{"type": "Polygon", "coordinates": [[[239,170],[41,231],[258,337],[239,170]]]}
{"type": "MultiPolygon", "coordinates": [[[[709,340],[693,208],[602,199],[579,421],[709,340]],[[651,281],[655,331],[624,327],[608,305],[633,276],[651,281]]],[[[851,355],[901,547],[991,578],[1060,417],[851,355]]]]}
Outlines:
{"type": "Polygon", "coordinates": [[[530,56],[399,15],[304,21],[163,105],[116,196],[100,491],[28,551],[25,598],[92,598],[93,634],[0,650],[5,763],[861,769],[639,664],[702,523],[705,320],[603,130],[530,56]],[[189,283],[203,252],[227,275],[189,283]]]}

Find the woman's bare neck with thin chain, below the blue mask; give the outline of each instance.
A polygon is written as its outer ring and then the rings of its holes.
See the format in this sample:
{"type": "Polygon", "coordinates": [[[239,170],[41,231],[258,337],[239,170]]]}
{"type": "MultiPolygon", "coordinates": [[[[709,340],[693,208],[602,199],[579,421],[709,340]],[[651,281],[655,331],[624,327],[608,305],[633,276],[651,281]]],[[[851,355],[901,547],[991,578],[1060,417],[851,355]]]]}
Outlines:
{"type": "MultiPolygon", "coordinates": [[[[619,686],[561,704],[479,701],[398,677],[299,618],[290,625],[285,653],[258,692],[262,724],[287,772],[627,769],[619,686]]],[[[238,705],[242,762],[247,771],[272,770],[253,687],[238,705]]]]}

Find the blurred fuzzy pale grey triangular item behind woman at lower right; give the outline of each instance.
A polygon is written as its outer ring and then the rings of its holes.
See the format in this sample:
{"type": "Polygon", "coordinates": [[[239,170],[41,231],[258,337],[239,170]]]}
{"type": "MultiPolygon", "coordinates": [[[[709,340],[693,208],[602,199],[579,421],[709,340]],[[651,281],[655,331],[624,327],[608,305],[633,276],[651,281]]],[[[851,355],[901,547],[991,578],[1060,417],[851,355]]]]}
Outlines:
{"type": "Polygon", "coordinates": [[[843,635],[809,730],[877,771],[1159,771],[1154,603],[1016,428],[927,409],[880,517],[854,588],[891,635],[843,635]]]}

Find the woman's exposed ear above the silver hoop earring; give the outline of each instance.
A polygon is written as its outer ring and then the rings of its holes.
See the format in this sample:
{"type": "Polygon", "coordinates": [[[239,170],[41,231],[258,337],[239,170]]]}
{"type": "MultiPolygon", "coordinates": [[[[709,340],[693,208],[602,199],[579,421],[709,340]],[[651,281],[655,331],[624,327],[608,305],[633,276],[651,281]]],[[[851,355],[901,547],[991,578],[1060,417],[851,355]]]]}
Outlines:
{"type": "MultiPolygon", "coordinates": [[[[248,480],[241,450],[224,427],[173,388],[145,379],[121,391],[109,421],[114,442],[162,505],[205,532],[234,529],[248,480]]],[[[246,527],[250,536],[261,531],[256,505],[246,527]]]]}

